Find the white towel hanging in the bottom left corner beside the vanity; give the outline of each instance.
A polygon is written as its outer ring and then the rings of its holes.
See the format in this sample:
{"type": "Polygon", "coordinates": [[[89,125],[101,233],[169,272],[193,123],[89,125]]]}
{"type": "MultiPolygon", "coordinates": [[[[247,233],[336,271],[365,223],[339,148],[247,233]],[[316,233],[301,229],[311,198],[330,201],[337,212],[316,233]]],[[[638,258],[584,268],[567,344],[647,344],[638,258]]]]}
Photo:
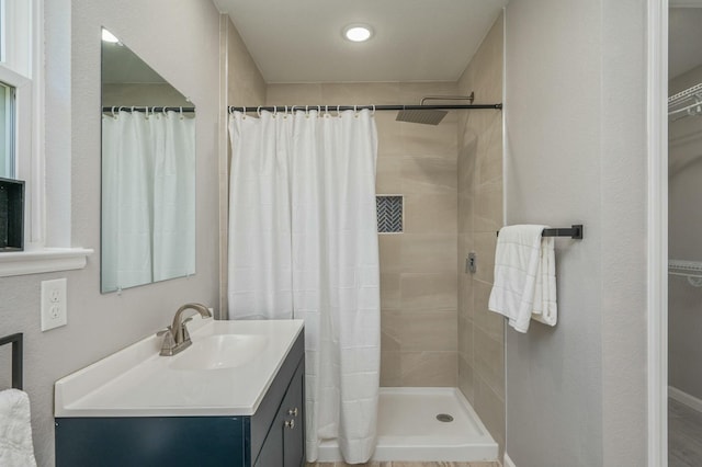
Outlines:
{"type": "Polygon", "coordinates": [[[19,389],[0,391],[0,466],[36,466],[30,424],[30,398],[19,389]]]}

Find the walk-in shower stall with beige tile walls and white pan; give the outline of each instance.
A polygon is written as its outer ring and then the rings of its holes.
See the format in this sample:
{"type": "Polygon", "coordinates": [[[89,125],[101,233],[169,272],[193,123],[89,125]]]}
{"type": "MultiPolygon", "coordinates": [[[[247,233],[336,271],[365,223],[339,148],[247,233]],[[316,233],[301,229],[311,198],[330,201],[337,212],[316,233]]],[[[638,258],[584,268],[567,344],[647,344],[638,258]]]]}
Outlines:
{"type": "MultiPolygon", "coordinates": [[[[378,111],[472,92],[471,104],[488,109],[430,115],[428,125],[415,123],[408,110],[375,113],[381,394],[373,460],[501,456],[503,320],[487,309],[495,232],[502,226],[502,114],[495,106],[501,83],[500,18],[456,82],[267,86],[265,104],[279,112],[321,103],[309,109],[336,115],[332,103],[378,111]],[[466,270],[469,253],[474,273],[466,270]]],[[[318,462],[335,460],[341,460],[336,441],[322,442],[318,462]]]]}

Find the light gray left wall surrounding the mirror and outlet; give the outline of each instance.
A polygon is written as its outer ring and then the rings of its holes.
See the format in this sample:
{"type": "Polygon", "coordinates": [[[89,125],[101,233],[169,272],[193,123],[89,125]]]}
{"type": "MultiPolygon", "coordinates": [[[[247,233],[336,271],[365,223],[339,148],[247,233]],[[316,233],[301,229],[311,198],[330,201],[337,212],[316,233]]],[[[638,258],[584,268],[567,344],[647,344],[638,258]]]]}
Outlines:
{"type": "MultiPolygon", "coordinates": [[[[218,297],[218,13],[211,2],[46,2],[49,196],[71,180],[72,244],[95,249],[84,270],[0,278],[0,334],[24,332],[25,389],[37,462],[54,464],[53,384],[169,323],[188,300],[218,297]],[[113,31],[197,106],[197,273],[100,295],[100,27],[113,31]],[[196,39],[193,41],[193,37],[196,39]],[[177,57],[178,59],[173,59],[177,57]],[[72,58],[72,61],[69,61],[72,58]],[[39,331],[39,282],[68,278],[68,326],[39,331]]],[[[66,217],[53,209],[47,217],[66,217]]]]}

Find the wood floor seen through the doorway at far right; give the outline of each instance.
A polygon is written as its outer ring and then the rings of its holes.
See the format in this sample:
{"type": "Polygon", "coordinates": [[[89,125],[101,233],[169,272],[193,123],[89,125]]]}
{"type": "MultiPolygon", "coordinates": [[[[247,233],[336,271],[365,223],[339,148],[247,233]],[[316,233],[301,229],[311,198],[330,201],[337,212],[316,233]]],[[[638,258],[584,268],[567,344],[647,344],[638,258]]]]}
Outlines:
{"type": "Polygon", "coordinates": [[[668,399],[668,467],[702,466],[702,413],[668,399]]]}

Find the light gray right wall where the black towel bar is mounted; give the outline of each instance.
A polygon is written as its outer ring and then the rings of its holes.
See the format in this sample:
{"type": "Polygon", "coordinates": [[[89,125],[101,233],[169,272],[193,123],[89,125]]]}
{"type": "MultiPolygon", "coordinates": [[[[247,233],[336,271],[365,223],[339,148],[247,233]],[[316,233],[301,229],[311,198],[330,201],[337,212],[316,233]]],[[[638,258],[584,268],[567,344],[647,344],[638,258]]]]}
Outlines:
{"type": "Polygon", "coordinates": [[[507,224],[585,224],[556,241],[558,324],[507,330],[519,467],[646,462],[645,8],[507,8],[507,224]]]}

